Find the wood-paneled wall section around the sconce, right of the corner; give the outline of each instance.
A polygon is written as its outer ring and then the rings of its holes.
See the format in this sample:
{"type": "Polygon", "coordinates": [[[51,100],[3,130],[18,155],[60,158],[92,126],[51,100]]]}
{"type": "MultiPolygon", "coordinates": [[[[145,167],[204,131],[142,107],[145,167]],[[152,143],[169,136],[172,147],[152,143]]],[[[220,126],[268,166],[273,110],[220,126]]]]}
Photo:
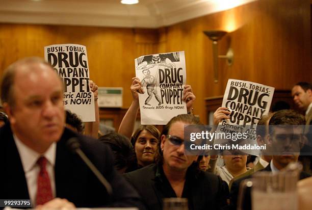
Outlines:
{"type": "Polygon", "coordinates": [[[223,95],[228,78],[291,89],[312,82],[309,0],[260,0],[169,27],[165,51],[185,50],[188,84],[197,96],[196,114],[205,121],[204,98],[223,95]],[[219,55],[230,46],[234,63],[219,59],[214,83],[212,41],[202,31],[229,31],[219,41],[219,55]]]}

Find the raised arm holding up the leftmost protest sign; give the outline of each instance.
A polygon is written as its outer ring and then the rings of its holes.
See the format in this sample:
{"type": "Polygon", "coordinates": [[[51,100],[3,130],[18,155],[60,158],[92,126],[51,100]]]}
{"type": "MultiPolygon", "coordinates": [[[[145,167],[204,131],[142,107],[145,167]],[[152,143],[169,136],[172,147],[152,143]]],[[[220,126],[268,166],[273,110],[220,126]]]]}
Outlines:
{"type": "Polygon", "coordinates": [[[94,112],[95,112],[95,122],[85,122],[85,135],[91,136],[95,139],[98,138],[98,129],[99,129],[99,111],[97,104],[97,85],[90,80],[90,89],[94,94],[94,112]]]}

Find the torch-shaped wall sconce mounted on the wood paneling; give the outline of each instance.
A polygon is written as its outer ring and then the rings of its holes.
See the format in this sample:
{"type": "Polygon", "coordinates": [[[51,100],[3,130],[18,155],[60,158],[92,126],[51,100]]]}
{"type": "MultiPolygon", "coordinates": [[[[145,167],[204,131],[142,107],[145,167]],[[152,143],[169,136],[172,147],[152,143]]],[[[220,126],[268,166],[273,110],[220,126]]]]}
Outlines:
{"type": "Polygon", "coordinates": [[[225,35],[225,31],[203,31],[203,33],[213,41],[213,62],[215,83],[218,82],[218,58],[227,59],[227,65],[233,64],[233,50],[228,48],[226,55],[218,56],[218,41],[225,35]]]}

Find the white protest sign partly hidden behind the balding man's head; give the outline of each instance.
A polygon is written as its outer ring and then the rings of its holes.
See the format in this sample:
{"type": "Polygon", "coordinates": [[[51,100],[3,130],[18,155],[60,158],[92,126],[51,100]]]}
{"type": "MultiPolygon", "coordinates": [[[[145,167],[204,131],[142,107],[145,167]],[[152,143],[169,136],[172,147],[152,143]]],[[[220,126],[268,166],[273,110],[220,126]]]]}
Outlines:
{"type": "Polygon", "coordinates": [[[89,65],[86,46],[55,44],[44,47],[44,59],[62,77],[65,109],[84,122],[95,121],[94,95],[89,86],[89,65]]]}

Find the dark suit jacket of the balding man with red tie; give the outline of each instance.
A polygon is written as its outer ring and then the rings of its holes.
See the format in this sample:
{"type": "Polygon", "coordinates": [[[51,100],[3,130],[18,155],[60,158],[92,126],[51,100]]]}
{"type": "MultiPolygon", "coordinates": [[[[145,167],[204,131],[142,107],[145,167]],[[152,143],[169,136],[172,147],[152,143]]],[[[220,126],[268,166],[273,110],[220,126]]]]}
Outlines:
{"type": "MultiPolygon", "coordinates": [[[[145,208],[138,193],[114,169],[112,157],[112,152],[105,144],[80,136],[66,128],[56,149],[56,197],[66,198],[77,207],[137,206],[145,208]],[[81,149],[110,182],[113,188],[111,198],[81,158],[67,148],[66,142],[72,137],[79,139],[81,149]]],[[[21,158],[10,124],[7,123],[0,129],[1,199],[30,199],[21,158]]]]}

